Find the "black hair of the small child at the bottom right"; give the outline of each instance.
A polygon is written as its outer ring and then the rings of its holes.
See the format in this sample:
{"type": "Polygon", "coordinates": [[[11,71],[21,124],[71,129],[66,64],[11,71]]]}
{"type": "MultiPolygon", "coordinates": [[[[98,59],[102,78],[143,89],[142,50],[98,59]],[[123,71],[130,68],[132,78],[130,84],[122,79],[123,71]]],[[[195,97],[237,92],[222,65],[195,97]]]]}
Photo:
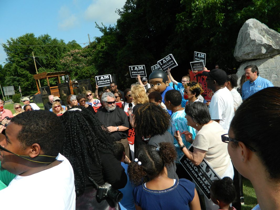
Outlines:
{"type": "Polygon", "coordinates": [[[232,203],[235,199],[235,188],[232,183],[232,179],[227,176],[223,179],[215,180],[210,187],[212,196],[225,204],[232,203]]]}

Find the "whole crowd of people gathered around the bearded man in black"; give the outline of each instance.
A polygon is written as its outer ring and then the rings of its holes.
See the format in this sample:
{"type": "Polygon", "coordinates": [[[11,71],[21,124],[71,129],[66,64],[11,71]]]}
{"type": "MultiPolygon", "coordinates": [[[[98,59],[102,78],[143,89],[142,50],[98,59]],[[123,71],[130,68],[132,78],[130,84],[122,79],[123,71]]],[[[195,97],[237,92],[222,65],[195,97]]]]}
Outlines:
{"type": "Polygon", "coordinates": [[[280,88],[255,65],[244,72],[247,81],[236,90],[235,74],[203,71],[210,102],[200,83],[189,75],[179,83],[170,69],[137,76],[124,91],[112,82],[104,91],[68,95],[67,106],[49,95],[38,110],[24,97],[12,114],[2,101],[2,208],[241,210],[244,176],[257,195],[254,209],[279,209],[280,88]],[[210,198],[183,157],[216,173],[210,198]]]}

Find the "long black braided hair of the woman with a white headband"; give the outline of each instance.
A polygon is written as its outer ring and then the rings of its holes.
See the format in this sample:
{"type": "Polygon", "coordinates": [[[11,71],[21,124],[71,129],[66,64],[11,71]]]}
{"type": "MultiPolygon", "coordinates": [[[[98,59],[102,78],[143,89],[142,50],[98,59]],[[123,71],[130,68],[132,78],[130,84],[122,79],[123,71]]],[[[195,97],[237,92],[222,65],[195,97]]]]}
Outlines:
{"type": "Polygon", "coordinates": [[[115,139],[85,107],[76,106],[66,111],[61,119],[65,127],[65,141],[61,153],[73,167],[76,196],[79,197],[85,191],[87,174],[90,174],[88,157],[96,165],[101,165],[99,152],[114,155],[115,139]]]}

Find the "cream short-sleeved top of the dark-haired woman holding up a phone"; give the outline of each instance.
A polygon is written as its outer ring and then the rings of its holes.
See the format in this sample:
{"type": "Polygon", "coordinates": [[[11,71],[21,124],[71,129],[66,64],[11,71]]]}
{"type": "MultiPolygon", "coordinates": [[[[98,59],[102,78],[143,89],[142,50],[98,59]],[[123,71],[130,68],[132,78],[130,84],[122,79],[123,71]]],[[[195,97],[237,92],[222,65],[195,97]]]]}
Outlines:
{"type": "Polygon", "coordinates": [[[193,147],[205,150],[205,160],[212,166],[219,176],[222,176],[231,164],[227,151],[227,144],[222,142],[224,129],[216,121],[204,125],[193,140],[193,147]]]}

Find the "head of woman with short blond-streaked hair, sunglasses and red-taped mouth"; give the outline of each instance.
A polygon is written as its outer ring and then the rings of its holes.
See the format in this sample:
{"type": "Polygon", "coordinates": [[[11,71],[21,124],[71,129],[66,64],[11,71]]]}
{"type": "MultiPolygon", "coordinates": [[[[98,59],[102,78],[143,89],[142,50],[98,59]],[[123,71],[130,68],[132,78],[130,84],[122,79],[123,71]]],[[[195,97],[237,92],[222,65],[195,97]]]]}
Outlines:
{"type": "Polygon", "coordinates": [[[187,99],[188,102],[199,101],[200,93],[203,93],[202,87],[197,82],[186,83],[184,86],[184,99],[187,99]]]}

